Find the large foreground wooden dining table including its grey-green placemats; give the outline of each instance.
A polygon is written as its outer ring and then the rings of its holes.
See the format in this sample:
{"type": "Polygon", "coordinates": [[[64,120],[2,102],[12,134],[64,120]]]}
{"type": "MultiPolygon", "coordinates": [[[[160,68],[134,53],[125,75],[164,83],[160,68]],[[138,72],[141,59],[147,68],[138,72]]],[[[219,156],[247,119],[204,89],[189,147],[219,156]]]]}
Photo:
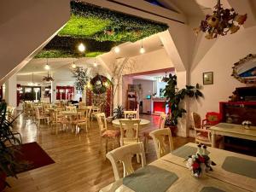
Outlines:
{"type": "Polygon", "coordinates": [[[100,192],[245,192],[256,191],[256,157],[218,148],[207,148],[216,166],[202,177],[193,177],[186,163],[197,144],[187,143],[123,177],[100,192]]]}

